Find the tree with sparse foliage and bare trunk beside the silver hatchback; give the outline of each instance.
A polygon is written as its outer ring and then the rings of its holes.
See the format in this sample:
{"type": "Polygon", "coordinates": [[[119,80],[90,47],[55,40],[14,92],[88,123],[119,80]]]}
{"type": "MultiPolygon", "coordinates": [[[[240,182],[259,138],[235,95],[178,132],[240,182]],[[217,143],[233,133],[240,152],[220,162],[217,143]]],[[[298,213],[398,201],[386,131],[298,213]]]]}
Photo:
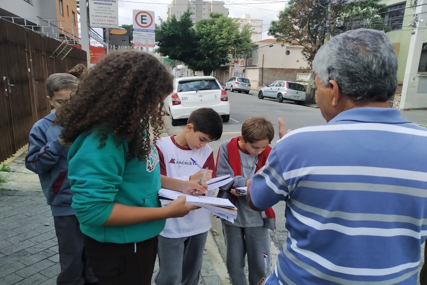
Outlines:
{"type": "MultiPolygon", "coordinates": [[[[311,68],[316,52],[325,43],[328,31],[332,36],[362,27],[387,32],[381,16],[384,15],[381,13],[386,11],[386,6],[379,1],[334,3],[330,19],[339,19],[340,23],[332,21],[331,24],[326,24],[330,0],[290,0],[288,8],[279,12],[279,19],[271,22],[268,34],[274,36],[277,41],[302,46],[301,54],[311,68]]],[[[311,72],[306,103],[315,102],[314,77],[314,72],[311,72]]]]}

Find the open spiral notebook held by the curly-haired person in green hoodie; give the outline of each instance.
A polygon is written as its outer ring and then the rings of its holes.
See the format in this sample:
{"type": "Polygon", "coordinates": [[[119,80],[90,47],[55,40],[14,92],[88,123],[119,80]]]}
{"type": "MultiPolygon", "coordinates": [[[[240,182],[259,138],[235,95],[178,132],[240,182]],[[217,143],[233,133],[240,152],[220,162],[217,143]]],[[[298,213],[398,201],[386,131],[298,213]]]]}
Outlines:
{"type": "Polygon", "coordinates": [[[210,213],[231,223],[234,223],[234,220],[237,218],[237,208],[228,199],[212,196],[193,196],[164,188],[159,190],[158,195],[162,207],[168,205],[179,196],[185,196],[186,203],[206,209],[210,213]]]}

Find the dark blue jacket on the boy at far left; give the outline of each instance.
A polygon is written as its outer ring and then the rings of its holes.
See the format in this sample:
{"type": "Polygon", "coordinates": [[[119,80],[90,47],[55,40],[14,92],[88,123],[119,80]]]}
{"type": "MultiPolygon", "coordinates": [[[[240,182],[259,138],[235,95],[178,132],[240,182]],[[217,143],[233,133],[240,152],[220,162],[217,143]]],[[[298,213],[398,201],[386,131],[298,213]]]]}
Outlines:
{"type": "Polygon", "coordinates": [[[52,216],[75,215],[68,173],[68,147],[58,141],[62,127],[53,125],[56,112],[34,124],[25,158],[25,167],[39,174],[40,184],[52,216]]]}

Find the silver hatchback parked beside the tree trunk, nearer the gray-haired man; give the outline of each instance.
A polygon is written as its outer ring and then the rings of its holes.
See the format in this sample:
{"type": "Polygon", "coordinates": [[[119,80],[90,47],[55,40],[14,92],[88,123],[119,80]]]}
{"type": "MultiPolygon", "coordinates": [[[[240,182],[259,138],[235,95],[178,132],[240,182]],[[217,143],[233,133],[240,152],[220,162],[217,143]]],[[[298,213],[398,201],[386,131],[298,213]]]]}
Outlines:
{"type": "Polygon", "coordinates": [[[258,91],[258,98],[264,97],[274,98],[279,103],[288,100],[302,105],[305,101],[305,86],[291,81],[273,81],[258,91]]]}

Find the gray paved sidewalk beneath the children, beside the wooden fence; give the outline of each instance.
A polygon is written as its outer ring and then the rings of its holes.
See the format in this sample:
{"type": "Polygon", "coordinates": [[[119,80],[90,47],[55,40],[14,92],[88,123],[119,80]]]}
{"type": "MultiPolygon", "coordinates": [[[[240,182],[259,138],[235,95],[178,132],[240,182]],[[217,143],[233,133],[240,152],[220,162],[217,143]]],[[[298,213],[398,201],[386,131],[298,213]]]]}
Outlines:
{"type": "MultiPolygon", "coordinates": [[[[0,284],[55,285],[60,267],[53,218],[38,175],[25,168],[26,150],[6,161],[11,172],[0,172],[7,180],[0,182],[0,284]]],[[[156,262],[153,279],[157,270],[156,262]]],[[[199,284],[230,284],[210,232],[199,284]]]]}

